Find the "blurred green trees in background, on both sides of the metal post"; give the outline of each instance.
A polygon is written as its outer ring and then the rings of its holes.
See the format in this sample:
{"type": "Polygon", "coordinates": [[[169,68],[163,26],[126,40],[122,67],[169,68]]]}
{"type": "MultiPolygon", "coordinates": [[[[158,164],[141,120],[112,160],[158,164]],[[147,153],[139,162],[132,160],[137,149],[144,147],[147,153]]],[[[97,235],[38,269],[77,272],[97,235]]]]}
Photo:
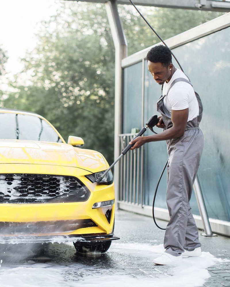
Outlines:
{"type": "MultiPolygon", "coordinates": [[[[163,39],[221,15],[217,12],[140,7],[163,39]]],[[[131,5],[119,5],[129,55],[159,42],[131,5]]],[[[47,118],[62,136],[83,137],[85,148],[113,162],[114,44],[104,5],[64,1],[41,23],[37,46],[9,82],[1,107],[47,118]]],[[[6,60],[1,51],[0,73],[6,60]]]]}

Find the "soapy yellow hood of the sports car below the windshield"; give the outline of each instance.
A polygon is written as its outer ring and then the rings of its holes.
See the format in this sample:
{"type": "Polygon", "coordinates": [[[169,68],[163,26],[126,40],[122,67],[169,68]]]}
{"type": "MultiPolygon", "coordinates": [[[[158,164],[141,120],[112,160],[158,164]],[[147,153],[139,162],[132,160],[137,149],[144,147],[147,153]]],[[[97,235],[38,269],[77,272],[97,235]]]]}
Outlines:
{"type": "Polygon", "coordinates": [[[90,172],[106,170],[104,157],[94,150],[69,144],[18,139],[1,139],[0,163],[71,166],[90,172]]]}

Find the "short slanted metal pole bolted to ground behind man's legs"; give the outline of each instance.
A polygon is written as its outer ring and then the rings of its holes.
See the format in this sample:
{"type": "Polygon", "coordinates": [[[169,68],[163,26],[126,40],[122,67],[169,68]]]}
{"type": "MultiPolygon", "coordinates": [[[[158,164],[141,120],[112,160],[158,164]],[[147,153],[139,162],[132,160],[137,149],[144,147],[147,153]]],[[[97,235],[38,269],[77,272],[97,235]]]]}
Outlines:
{"type": "Polygon", "coordinates": [[[198,204],[198,208],[200,211],[200,216],[202,218],[202,222],[203,222],[203,226],[204,226],[204,232],[201,235],[203,236],[216,236],[216,234],[212,233],[212,229],[210,226],[210,222],[208,220],[208,213],[206,210],[206,206],[204,203],[204,197],[200,188],[200,182],[198,180],[198,177],[196,177],[195,182],[193,184],[193,189],[195,191],[195,195],[196,195],[196,200],[197,200],[197,204],[198,204]]]}

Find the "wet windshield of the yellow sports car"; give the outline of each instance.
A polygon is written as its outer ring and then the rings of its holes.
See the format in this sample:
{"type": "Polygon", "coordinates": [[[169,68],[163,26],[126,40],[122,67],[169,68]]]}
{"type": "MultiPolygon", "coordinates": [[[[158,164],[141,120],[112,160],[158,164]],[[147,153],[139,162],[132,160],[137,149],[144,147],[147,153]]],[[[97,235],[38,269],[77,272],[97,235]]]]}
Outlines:
{"type": "Polygon", "coordinates": [[[0,122],[0,139],[62,142],[51,125],[37,116],[0,113],[0,122]]]}

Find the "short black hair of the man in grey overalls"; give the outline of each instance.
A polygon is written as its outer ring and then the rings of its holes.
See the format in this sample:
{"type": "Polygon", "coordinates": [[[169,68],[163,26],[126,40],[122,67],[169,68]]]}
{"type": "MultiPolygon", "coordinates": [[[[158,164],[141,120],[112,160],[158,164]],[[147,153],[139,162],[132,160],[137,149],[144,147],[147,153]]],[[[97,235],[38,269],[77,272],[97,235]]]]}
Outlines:
{"type": "Polygon", "coordinates": [[[162,63],[167,67],[172,63],[172,53],[168,47],[157,45],[147,53],[146,59],[153,63],[162,63]]]}

